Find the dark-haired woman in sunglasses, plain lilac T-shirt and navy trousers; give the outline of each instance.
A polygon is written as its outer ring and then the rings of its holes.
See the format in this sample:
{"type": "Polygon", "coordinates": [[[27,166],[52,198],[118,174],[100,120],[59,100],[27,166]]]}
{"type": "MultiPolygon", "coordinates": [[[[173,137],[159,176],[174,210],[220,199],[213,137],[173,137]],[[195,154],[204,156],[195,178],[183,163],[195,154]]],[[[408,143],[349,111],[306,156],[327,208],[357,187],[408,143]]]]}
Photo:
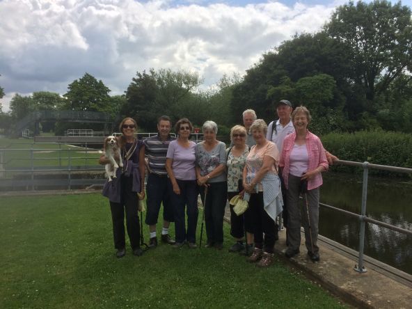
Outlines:
{"type": "Polygon", "coordinates": [[[189,248],[196,248],[196,226],[198,224],[198,188],[195,172],[196,143],[189,141],[193,126],[187,118],[176,122],[177,139],[171,141],[166,154],[166,171],[170,182],[171,203],[175,214],[175,248],[186,242],[189,248]],[[184,209],[187,207],[187,229],[184,209]]]}

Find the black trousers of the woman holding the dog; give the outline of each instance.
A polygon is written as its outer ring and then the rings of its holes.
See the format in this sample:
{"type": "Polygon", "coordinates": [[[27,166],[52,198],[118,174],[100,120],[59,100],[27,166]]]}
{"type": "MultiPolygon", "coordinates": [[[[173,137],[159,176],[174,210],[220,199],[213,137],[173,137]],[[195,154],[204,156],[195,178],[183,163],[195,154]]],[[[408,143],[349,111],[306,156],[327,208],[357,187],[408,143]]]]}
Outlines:
{"type": "Polygon", "coordinates": [[[111,220],[113,221],[114,247],[122,249],[126,246],[125,241],[125,214],[127,235],[129,235],[132,250],[140,246],[140,229],[138,220],[138,197],[132,192],[132,177],[122,175],[120,203],[110,202],[111,220]]]}

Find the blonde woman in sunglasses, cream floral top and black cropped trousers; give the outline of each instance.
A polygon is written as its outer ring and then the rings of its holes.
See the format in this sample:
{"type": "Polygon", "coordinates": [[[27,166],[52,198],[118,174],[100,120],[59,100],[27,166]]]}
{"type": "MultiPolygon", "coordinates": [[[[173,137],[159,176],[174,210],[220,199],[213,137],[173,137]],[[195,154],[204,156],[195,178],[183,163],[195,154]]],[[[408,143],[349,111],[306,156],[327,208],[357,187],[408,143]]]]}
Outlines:
{"type": "MultiPolygon", "coordinates": [[[[248,145],[246,145],[246,128],[241,125],[235,125],[230,130],[230,141],[232,147],[226,149],[226,166],[228,173],[228,200],[241,194],[243,196],[244,189],[239,184],[246,163],[246,157],[249,153],[248,145]]],[[[229,248],[229,252],[239,252],[241,254],[250,255],[253,251],[253,231],[251,227],[250,216],[248,210],[244,214],[237,216],[233,211],[233,206],[230,205],[230,235],[235,237],[236,243],[229,248]],[[244,230],[246,230],[246,248],[244,246],[244,230]]]]}

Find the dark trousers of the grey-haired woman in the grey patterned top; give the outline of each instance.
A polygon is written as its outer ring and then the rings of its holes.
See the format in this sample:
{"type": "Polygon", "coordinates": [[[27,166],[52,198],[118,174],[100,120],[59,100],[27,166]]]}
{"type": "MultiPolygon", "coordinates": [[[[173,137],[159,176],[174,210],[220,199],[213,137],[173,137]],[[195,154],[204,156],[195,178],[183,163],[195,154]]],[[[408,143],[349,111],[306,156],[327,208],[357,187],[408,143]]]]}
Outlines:
{"type": "MultiPolygon", "coordinates": [[[[205,200],[205,187],[200,187],[200,197],[205,200]]],[[[212,182],[207,189],[205,200],[205,224],[207,242],[223,243],[223,216],[228,197],[228,182],[212,182]]]]}

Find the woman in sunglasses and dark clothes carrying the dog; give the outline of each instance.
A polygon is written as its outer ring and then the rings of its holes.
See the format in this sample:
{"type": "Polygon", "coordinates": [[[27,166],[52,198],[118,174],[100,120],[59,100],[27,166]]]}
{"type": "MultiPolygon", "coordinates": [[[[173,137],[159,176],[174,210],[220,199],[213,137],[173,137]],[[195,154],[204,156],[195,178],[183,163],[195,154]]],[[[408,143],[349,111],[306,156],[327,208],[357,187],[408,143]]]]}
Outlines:
{"type": "MultiPolygon", "coordinates": [[[[138,198],[145,198],[145,145],[134,137],[137,124],[132,118],[125,118],[120,122],[118,137],[123,160],[123,168],[118,168],[117,177],[104,184],[103,196],[109,198],[111,219],[113,221],[114,246],[116,256],[122,258],[126,254],[125,242],[125,213],[127,234],[133,254],[141,256],[140,230],[138,219],[138,198]],[[137,195],[140,193],[140,196],[137,195]]],[[[110,161],[102,156],[100,164],[110,161]]]]}

